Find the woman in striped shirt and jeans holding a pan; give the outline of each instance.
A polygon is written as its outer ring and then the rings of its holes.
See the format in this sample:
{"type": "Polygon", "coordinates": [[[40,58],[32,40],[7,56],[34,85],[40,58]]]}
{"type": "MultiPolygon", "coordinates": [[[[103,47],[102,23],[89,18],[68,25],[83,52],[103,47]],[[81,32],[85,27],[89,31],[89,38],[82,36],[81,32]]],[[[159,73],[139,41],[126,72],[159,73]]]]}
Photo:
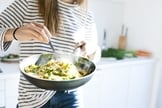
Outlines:
{"type": "MultiPolygon", "coordinates": [[[[98,61],[97,33],[85,0],[16,0],[0,15],[0,47],[6,51],[13,40],[20,42],[21,59],[56,51],[79,54],[98,61]]],[[[73,91],[37,88],[20,75],[19,108],[82,108],[80,95],[73,91]]]]}

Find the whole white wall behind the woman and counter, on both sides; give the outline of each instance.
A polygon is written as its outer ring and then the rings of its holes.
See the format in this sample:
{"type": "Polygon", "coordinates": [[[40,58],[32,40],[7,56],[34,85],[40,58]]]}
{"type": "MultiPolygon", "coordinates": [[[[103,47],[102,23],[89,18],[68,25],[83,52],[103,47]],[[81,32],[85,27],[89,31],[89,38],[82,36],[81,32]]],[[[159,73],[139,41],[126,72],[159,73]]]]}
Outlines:
{"type": "MultiPolygon", "coordinates": [[[[0,12],[14,0],[1,0],[0,12]]],[[[122,26],[126,28],[125,50],[143,50],[157,60],[152,75],[150,108],[162,108],[162,1],[161,0],[89,0],[93,11],[99,45],[103,49],[118,48],[122,26]]],[[[7,52],[19,54],[18,42],[14,41],[7,52]]]]}

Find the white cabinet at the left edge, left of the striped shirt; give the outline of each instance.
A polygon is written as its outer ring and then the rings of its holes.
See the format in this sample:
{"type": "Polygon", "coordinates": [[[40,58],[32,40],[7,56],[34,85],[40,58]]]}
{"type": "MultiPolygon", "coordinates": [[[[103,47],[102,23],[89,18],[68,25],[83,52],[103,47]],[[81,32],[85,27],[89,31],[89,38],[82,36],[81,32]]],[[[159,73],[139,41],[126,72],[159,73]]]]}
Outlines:
{"type": "Polygon", "coordinates": [[[0,63],[0,108],[16,108],[19,70],[17,63],[0,63]]]}

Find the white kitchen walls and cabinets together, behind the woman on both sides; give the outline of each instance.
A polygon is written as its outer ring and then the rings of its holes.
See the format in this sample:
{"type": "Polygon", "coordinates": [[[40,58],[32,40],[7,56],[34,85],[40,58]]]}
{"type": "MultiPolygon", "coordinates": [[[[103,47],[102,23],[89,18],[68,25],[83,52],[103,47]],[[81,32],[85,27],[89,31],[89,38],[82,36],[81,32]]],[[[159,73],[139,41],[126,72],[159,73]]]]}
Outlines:
{"type": "MultiPolygon", "coordinates": [[[[2,12],[14,0],[0,1],[2,12]]],[[[101,49],[118,48],[122,25],[127,28],[128,51],[151,56],[116,60],[102,57],[92,79],[83,88],[85,108],[162,108],[162,1],[89,0],[101,49]]],[[[14,41],[0,57],[19,54],[14,41]]],[[[0,108],[16,108],[18,62],[0,62],[0,108]]]]}

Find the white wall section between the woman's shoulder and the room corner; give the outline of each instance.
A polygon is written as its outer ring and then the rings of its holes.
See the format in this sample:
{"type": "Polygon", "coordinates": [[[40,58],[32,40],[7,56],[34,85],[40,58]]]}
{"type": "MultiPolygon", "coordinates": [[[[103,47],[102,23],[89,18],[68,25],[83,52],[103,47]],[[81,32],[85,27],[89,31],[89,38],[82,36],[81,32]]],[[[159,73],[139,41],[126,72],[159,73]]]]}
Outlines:
{"type": "Polygon", "coordinates": [[[123,23],[124,4],[116,0],[89,0],[89,8],[95,16],[100,46],[106,29],[107,47],[116,47],[123,23]]]}

